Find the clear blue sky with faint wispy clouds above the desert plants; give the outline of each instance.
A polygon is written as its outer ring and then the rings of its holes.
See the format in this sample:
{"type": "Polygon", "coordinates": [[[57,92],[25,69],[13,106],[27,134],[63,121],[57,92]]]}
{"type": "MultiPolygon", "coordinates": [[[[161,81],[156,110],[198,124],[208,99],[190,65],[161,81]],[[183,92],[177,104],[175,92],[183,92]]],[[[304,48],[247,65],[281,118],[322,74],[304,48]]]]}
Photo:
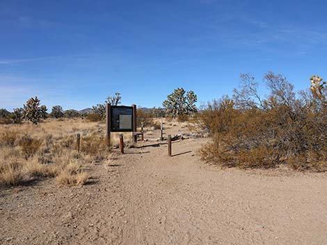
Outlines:
{"type": "Polygon", "coordinates": [[[118,91],[159,106],[176,87],[201,101],[239,74],[327,77],[326,1],[0,0],[0,108],[38,95],[83,109],[118,91]]]}

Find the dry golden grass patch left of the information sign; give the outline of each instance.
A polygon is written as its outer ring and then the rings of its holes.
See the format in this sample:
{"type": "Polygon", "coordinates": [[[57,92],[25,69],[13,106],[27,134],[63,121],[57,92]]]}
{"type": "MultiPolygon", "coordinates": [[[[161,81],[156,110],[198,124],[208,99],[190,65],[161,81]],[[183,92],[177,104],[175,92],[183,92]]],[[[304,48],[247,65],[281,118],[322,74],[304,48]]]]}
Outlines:
{"type": "Polygon", "coordinates": [[[54,178],[60,185],[83,185],[83,164],[109,158],[104,123],[48,119],[38,125],[0,125],[0,184],[21,185],[29,178],[54,178]],[[76,134],[81,134],[81,152],[76,134]]]}

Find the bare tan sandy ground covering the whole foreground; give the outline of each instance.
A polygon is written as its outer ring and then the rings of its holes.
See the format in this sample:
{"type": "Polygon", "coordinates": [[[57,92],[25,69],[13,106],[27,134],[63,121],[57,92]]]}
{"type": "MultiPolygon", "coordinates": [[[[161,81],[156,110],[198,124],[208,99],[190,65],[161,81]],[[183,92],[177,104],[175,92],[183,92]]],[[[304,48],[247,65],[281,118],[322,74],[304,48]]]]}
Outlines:
{"type": "Polygon", "coordinates": [[[205,142],[174,142],[172,158],[139,143],[83,187],[1,189],[0,244],[327,244],[326,173],[209,167],[205,142]]]}

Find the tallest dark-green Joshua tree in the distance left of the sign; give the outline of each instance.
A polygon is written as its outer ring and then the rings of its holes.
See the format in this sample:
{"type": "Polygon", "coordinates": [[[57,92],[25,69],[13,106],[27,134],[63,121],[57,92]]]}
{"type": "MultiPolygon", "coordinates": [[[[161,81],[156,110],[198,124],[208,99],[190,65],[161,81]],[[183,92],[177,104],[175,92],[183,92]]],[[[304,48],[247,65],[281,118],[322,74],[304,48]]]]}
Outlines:
{"type": "Polygon", "coordinates": [[[40,100],[37,96],[26,101],[24,105],[24,119],[38,124],[40,119],[47,117],[47,107],[45,105],[40,106],[40,100]]]}

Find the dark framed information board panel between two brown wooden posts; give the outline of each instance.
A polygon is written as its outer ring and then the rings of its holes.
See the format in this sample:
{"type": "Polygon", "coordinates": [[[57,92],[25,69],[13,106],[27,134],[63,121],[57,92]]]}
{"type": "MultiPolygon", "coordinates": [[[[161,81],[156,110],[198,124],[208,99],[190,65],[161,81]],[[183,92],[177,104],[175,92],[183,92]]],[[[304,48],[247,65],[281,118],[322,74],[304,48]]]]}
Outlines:
{"type": "Polygon", "coordinates": [[[133,107],[111,105],[111,132],[133,132],[133,107]]]}

